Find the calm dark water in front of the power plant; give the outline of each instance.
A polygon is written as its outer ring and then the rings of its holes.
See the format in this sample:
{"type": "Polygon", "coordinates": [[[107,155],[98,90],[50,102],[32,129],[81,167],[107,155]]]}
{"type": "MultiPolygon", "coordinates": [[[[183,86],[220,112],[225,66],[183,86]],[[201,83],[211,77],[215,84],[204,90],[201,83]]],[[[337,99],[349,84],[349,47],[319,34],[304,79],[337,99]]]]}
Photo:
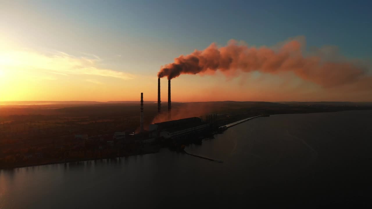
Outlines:
{"type": "Polygon", "coordinates": [[[193,154],[0,170],[0,208],[365,204],[372,111],[273,115],[234,126],[193,154]]]}

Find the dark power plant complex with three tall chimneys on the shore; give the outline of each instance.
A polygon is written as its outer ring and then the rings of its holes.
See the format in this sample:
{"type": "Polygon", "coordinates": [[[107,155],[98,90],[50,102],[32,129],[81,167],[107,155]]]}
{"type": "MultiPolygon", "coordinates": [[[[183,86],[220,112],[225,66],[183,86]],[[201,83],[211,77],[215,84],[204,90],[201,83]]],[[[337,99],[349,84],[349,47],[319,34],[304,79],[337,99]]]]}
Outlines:
{"type": "MultiPolygon", "coordinates": [[[[167,121],[150,124],[147,130],[144,128],[144,97],[143,93],[141,93],[140,132],[135,134],[135,138],[144,142],[160,143],[180,150],[190,143],[201,144],[203,138],[212,137],[217,133],[217,115],[206,115],[204,119],[192,117],[172,120],[170,84],[171,82],[168,80],[167,121]]],[[[160,114],[162,114],[162,112],[160,78],[158,78],[157,117],[159,117],[160,114]]]]}

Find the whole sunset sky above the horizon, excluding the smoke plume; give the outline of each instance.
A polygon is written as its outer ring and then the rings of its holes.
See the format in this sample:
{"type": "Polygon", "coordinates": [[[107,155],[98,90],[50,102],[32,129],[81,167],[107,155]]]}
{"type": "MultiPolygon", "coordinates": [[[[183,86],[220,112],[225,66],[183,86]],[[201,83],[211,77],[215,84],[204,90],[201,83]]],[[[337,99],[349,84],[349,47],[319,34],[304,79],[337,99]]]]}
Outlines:
{"type": "MultiPolygon", "coordinates": [[[[0,101],[157,100],[157,73],[229,40],[301,40],[371,75],[371,1],[0,0],[0,101]]],[[[323,55],[322,55],[323,56],[323,55]]],[[[337,76],[337,75],[335,75],[337,76]]],[[[369,101],[372,88],[324,87],[291,72],[181,75],[172,101],[369,101]]],[[[161,79],[167,101],[167,79],[161,79]]]]}

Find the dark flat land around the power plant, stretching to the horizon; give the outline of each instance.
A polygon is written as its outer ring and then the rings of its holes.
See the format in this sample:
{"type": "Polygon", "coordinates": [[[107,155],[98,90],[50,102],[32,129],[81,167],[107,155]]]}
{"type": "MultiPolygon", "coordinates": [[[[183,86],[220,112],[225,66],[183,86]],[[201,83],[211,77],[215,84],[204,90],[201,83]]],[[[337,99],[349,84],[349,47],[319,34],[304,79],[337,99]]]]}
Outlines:
{"type": "MultiPolygon", "coordinates": [[[[157,141],[146,142],[135,134],[140,126],[140,102],[38,104],[0,106],[0,169],[146,154],[160,147],[157,141]]],[[[161,108],[162,115],[157,117],[157,104],[145,102],[145,129],[166,120],[166,103],[161,108]]],[[[174,102],[172,120],[206,119],[213,114],[216,125],[223,126],[257,115],[368,109],[372,103],[174,102]]]]}

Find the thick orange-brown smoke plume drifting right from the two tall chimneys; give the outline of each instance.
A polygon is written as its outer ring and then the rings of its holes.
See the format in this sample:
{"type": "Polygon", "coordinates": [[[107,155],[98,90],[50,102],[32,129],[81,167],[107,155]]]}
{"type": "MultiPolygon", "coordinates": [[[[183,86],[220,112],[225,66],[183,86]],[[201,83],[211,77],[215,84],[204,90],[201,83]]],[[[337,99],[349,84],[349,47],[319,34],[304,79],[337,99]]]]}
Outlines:
{"type": "MultiPolygon", "coordinates": [[[[349,61],[329,61],[322,55],[304,56],[303,48],[303,44],[296,40],[275,50],[264,46],[248,47],[234,40],[223,47],[212,43],[203,51],[195,50],[189,55],[175,58],[173,63],[161,68],[158,77],[170,80],[181,74],[214,73],[218,70],[225,75],[252,71],[271,74],[291,71],[323,87],[352,84],[366,77],[371,80],[366,75],[366,68],[349,61]]],[[[372,88],[371,84],[368,84],[368,88],[372,88]]]]}

